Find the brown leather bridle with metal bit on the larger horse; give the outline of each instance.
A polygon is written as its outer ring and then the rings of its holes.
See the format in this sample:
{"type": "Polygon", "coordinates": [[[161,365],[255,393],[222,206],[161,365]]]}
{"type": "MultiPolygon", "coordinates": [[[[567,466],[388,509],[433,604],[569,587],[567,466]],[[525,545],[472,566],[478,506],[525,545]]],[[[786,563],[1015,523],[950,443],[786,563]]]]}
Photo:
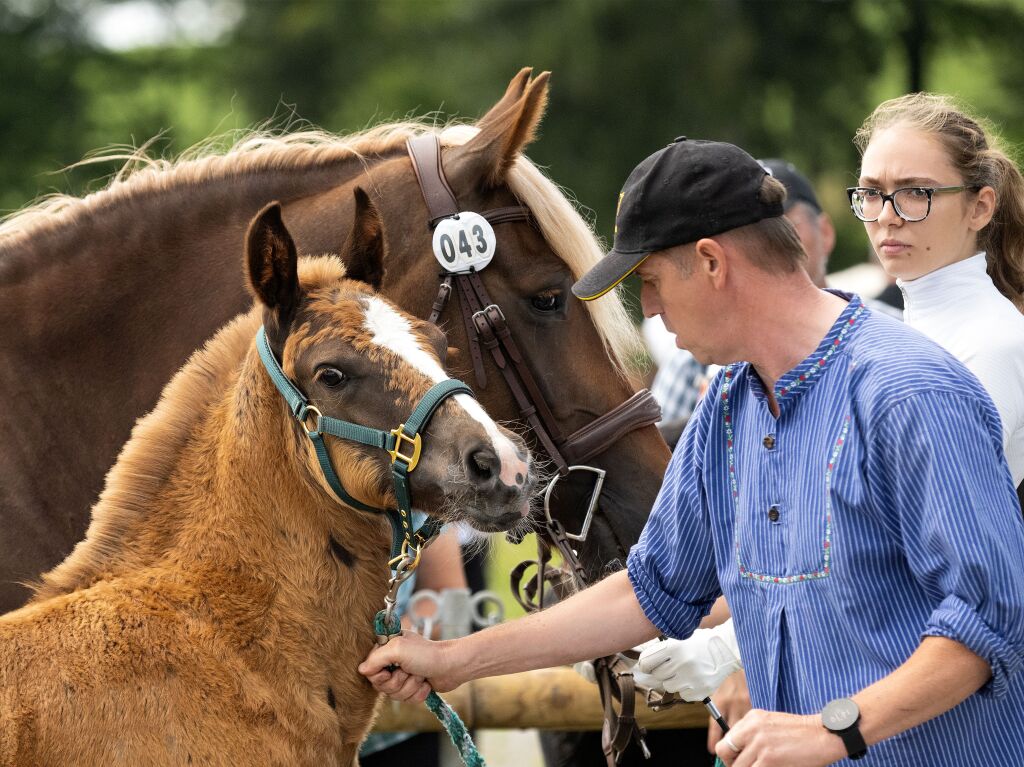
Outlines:
{"type": "MultiPolygon", "coordinates": [[[[433,133],[424,133],[410,138],[407,147],[427,206],[428,224],[431,230],[445,218],[458,218],[462,209],[444,176],[438,137],[433,133]]],[[[536,226],[529,209],[523,206],[495,208],[479,212],[479,215],[492,225],[526,222],[536,226]]],[[[656,423],[660,418],[662,409],[650,391],[643,389],[583,428],[564,436],[512,337],[505,319],[505,312],[490,300],[477,271],[470,269],[466,272],[443,274],[431,308],[430,322],[437,323],[456,290],[461,297],[459,304],[462,307],[470,356],[478,385],[486,386],[483,369],[485,350],[489,352],[505,378],[515,398],[520,418],[532,429],[544,451],[558,469],[544,497],[546,517],[544,527],[554,547],[561,553],[565,569],[559,571],[547,567],[551,545],[538,536],[537,561],[523,562],[512,572],[512,590],[519,603],[527,610],[541,609],[544,606],[546,586],[554,585],[556,590],[560,591],[573,591],[586,586],[584,569],[580,565],[579,555],[570,540],[580,543],[586,541],[605,476],[603,469],[588,466],[586,462],[604,453],[634,429],[656,423]],[[561,522],[552,517],[550,508],[556,483],[573,471],[588,471],[595,475],[587,514],[577,534],[567,532],[561,522]],[[523,588],[522,579],[530,565],[537,566],[537,574],[523,588]]],[[[643,742],[643,729],[636,724],[633,717],[632,674],[629,671],[620,671],[621,668],[621,658],[617,655],[598,658],[595,662],[605,717],[602,745],[608,764],[612,767],[633,739],[637,739],[647,753],[647,747],[643,742]],[[618,701],[620,706],[617,712],[615,701],[618,701]]]]}

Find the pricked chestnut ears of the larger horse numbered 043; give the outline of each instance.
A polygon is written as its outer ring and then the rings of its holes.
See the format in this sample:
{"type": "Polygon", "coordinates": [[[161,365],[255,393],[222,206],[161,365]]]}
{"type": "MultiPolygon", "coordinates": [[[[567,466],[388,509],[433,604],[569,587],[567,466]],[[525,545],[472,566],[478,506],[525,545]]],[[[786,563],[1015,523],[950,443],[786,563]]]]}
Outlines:
{"type": "Polygon", "coordinates": [[[536,137],[548,102],[550,73],[527,82],[529,70],[516,75],[505,96],[477,123],[480,132],[450,150],[447,168],[453,178],[481,179],[487,186],[504,181],[516,155],[536,137]]]}

